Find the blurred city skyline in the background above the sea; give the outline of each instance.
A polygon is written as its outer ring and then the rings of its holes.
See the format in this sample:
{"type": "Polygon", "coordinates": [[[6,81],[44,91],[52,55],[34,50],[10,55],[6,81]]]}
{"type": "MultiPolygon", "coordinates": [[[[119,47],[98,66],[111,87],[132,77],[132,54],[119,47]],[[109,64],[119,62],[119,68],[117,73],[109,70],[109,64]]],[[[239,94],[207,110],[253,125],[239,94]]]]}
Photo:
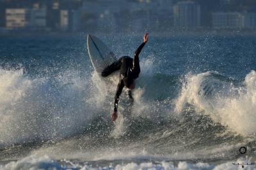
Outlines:
{"type": "Polygon", "coordinates": [[[0,33],[256,32],[253,0],[0,0],[0,33]]]}

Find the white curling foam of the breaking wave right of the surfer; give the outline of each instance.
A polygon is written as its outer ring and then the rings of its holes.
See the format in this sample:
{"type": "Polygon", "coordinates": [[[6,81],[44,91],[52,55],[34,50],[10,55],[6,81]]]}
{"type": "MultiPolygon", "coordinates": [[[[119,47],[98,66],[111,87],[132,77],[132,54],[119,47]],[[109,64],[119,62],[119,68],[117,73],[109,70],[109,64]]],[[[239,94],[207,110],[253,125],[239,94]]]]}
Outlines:
{"type": "Polygon", "coordinates": [[[211,98],[207,98],[200,92],[205,79],[214,79],[210,76],[211,74],[211,72],[205,72],[198,75],[188,75],[175,104],[176,112],[182,112],[186,108],[186,104],[191,104],[195,106],[196,111],[205,111],[205,114],[211,116],[214,121],[229,127],[239,134],[255,135],[255,71],[246,75],[244,86],[235,88],[230,82],[221,82],[224,84],[223,88],[215,91],[211,98]],[[225,89],[223,91],[227,84],[228,90],[225,89]]]}

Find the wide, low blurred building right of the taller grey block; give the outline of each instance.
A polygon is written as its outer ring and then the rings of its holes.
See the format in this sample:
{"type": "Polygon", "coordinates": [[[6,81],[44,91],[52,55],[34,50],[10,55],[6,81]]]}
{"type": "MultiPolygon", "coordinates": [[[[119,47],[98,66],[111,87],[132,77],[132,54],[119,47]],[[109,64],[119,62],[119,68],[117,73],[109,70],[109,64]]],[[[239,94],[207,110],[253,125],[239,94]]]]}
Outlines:
{"type": "Polygon", "coordinates": [[[242,29],[244,15],[239,12],[214,12],[212,13],[212,27],[214,29],[242,29]]]}

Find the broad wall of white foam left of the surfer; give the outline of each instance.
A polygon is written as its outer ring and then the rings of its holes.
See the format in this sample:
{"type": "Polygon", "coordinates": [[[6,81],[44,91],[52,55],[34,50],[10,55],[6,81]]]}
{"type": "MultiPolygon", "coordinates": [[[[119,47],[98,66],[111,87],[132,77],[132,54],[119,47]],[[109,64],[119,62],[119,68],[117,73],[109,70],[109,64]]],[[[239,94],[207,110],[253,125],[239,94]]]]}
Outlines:
{"type": "Polygon", "coordinates": [[[83,131],[102,103],[93,104],[90,80],[90,75],[85,79],[71,71],[31,79],[22,70],[0,70],[0,145],[57,140],[83,131]]]}

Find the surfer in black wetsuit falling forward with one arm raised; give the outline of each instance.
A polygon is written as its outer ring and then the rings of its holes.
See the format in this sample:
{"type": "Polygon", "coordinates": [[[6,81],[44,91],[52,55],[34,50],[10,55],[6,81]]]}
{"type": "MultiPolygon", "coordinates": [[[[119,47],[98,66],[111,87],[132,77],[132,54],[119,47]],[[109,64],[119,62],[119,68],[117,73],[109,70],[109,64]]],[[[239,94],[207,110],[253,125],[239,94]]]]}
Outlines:
{"type": "Polygon", "coordinates": [[[115,121],[117,118],[118,101],[124,86],[129,89],[128,95],[133,101],[131,90],[135,88],[135,79],[137,79],[140,74],[139,54],[147,42],[148,33],[143,36],[143,43],[141,43],[138,49],[134,52],[133,59],[129,56],[123,56],[122,58],[118,59],[118,61],[115,61],[111,65],[104,68],[102,71],[102,77],[107,77],[111,73],[120,70],[120,80],[116,89],[114,112],[111,116],[112,121],[115,121]]]}

